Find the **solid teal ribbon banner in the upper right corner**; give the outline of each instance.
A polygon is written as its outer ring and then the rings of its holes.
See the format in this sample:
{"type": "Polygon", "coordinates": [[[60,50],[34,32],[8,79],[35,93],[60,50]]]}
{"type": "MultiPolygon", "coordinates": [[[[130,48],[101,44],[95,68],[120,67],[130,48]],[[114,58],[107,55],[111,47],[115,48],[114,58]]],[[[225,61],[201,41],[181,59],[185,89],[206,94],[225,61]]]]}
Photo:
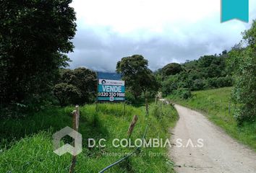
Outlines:
{"type": "Polygon", "coordinates": [[[221,0],[221,22],[231,19],[249,22],[249,0],[221,0]]]}

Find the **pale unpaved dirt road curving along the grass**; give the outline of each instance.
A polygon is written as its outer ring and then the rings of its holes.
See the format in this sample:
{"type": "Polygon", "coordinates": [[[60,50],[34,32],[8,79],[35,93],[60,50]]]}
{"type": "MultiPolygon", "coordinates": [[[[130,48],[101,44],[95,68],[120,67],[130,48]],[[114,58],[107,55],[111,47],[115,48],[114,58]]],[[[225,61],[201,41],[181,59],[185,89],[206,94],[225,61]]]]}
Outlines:
{"type": "Polygon", "coordinates": [[[171,139],[176,146],[170,152],[176,172],[256,173],[255,151],[237,143],[199,112],[175,107],[179,121],[171,139]]]}

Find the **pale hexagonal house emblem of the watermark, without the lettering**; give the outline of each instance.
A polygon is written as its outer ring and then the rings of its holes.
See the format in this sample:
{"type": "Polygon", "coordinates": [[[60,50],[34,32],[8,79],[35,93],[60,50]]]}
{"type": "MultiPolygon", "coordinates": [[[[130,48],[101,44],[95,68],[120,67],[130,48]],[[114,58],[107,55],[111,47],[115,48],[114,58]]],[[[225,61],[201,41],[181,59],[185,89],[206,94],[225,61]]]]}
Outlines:
{"type": "Polygon", "coordinates": [[[54,153],[58,154],[59,156],[66,153],[77,156],[77,154],[80,154],[82,152],[82,135],[76,130],[69,128],[68,126],[54,133],[53,139],[54,153]],[[64,136],[70,136],[74,138],[74,146],[71,146],[69,143],[61,146],[61,138],[63,138],[64,136]]]}

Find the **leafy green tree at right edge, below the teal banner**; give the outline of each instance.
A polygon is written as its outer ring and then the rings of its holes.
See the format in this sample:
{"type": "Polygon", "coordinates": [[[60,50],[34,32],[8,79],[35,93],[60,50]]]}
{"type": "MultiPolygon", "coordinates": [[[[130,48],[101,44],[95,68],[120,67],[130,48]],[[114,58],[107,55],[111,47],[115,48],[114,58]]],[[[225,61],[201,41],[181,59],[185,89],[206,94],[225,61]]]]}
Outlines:
{"type": "Polygon", "coordinates": [[[233,49],[229,53],[229,63],[236,76],[233,98],[239,103],[235,117],[239,125],[256,120],[256,21],[243,32],[247,48],[233,49]]]}

